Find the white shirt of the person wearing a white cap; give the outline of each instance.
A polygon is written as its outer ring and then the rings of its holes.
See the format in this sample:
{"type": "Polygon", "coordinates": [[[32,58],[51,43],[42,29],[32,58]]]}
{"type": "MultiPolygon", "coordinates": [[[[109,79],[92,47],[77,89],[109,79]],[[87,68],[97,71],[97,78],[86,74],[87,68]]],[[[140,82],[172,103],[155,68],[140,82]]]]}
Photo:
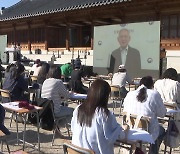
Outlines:
{"type": "Polygon", "coordinates": [[[131,79],[129,78],[127,72],[117,72],[114,73],[112,78],[112,85],[118,85],[119,87],[125,87],[126,81],[131,83],[131,79]]]}

